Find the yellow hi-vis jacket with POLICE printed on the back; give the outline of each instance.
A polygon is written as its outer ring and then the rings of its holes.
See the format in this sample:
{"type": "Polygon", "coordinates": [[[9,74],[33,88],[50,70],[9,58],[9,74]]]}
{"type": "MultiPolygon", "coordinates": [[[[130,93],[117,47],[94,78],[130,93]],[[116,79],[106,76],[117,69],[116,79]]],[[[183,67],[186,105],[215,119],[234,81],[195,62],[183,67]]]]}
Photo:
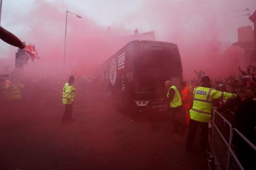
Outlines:
{"type": "Polygon", "coordinates": [[[231,99],[236,95],[222,92],[208,87],[194,89],[193,107],[190,109],[190,118],[199,122],[209,122],[213,114],[213,99],[231,99]]]}

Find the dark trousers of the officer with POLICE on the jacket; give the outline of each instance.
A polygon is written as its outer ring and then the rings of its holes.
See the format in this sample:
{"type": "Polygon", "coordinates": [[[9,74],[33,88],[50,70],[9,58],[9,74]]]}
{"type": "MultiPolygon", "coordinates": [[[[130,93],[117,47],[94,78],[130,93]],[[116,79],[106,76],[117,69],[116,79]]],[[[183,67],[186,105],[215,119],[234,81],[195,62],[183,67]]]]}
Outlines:
{"type": "Polygon", "coordinates": [[[199,122],[193,119],[190,119],[189,123],[189,132],[187,135],[186,147],[191,149],[193,145],[193,141],[196,135],[196,130],[198,124],[201,125],[201,149],[206,149],[208,143],[208,123],[199,122]]]}

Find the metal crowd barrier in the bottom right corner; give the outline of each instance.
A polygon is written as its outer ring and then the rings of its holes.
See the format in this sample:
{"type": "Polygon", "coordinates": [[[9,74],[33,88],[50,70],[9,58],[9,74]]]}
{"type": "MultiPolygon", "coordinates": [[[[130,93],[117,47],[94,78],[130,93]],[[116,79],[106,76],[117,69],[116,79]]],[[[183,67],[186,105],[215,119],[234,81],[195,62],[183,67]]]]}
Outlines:
{"type": "MultiPolygon", "coordinates": [[[[242,140],[256,155],[256,147],[237,129],[232,128],[231,123],[220,113],[215,112],[212,122],[211,147],[215,164],[219,170],[244,170],[238,153],[234,151],[234,135],[236,135],[236,140],[238,138],[240,141],[242,140]]],[[[252,162],[251,164],[255,163],[252,162]]]]}

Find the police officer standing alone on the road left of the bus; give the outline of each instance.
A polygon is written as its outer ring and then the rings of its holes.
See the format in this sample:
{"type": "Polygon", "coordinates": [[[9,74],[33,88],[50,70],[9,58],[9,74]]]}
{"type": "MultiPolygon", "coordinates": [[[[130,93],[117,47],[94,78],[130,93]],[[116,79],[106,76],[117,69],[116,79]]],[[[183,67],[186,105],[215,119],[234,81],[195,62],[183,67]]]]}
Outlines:
{"type": "Polygon", "coordinates": [[[62,123],[67,124],[72,119],[72,112],[73,112],[73,103],[75,99],[75,86],[74,86],[75,78],[73,75],[70,76],[68,83],[65,84],[63,87],[62,92],[62,103],[65,105],[65,112],[63,114],[62,123]]]}

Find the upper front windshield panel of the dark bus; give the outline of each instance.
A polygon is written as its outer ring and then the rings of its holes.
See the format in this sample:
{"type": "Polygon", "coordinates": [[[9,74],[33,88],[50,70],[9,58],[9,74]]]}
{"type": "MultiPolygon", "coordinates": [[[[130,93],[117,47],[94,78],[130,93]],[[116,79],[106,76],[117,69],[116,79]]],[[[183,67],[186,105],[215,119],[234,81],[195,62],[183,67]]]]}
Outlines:
{"type": "Polygon", "coordinates": [[[138,43],[134,61],[135,69],[182,70],[178,48],[161,42],[138,43]]]}

